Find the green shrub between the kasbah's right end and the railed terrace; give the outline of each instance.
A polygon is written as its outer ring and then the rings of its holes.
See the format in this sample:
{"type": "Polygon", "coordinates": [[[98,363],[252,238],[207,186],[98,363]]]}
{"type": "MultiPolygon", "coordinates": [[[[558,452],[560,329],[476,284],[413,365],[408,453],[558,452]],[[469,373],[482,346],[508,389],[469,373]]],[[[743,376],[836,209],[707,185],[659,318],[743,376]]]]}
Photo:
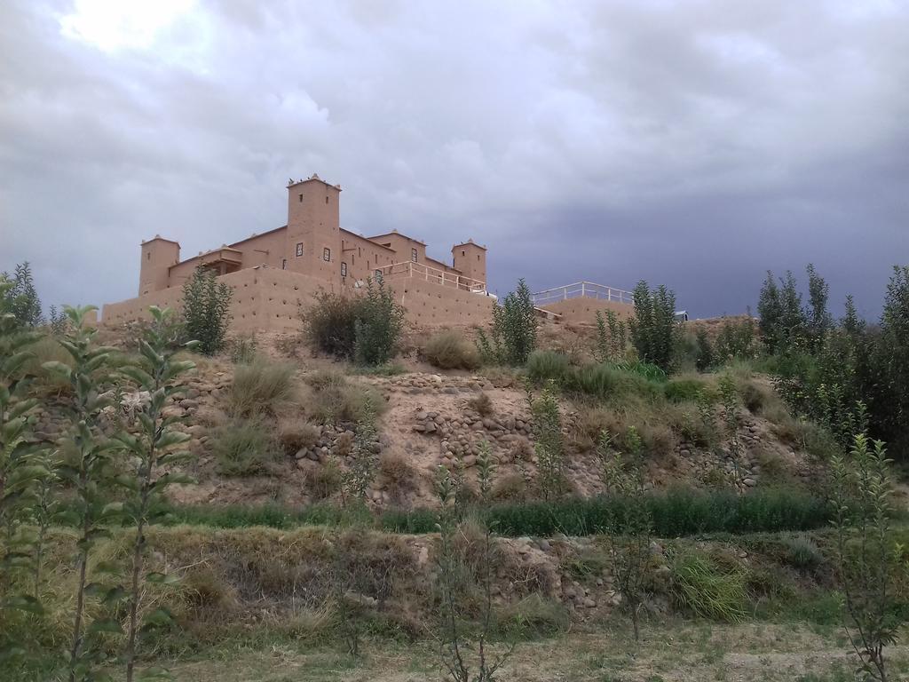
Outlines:
{"type": "Polygon", "coordinates": [[[536,347],[536,314],[530,289],[524,279],[517,289],[493,307],[493,328],[489,336],[477,330],[476,347],[490,365],[520,366],[536,347]]]}

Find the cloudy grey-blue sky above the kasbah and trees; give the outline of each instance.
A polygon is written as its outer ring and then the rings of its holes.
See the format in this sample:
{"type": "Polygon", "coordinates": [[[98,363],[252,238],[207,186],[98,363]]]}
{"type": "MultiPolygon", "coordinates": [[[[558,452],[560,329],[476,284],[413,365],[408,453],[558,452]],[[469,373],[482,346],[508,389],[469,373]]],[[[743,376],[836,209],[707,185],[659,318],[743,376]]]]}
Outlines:
{"type": "Polygon", "coordinates": [[[155,233],[282,226],[314,172],[347,229],[484,243],[499,293],[644,278],[712,316],[814,261],[874,317],[909,3],[0,2],[0,269],[46,304],[135,296],[155,233]]]}

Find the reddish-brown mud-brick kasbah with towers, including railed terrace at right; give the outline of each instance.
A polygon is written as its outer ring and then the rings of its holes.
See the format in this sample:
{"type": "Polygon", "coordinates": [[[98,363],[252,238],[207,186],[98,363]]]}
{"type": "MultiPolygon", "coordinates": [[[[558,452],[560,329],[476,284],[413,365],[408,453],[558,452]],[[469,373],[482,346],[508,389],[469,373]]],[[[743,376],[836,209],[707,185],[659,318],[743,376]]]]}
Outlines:
{"type": "MultiPolygon", "coordinates": [[[[396,230],[361,236],[341,227],[341,187],[319,176],[287,185],[287,225],[180,259],[180,245],[155,236],[142,244],[139,295],[104,306],[102,321],[142,318],[148,306],[179,306],[182,286],[202,266],[232,286],[235,332],[299,329],[301,308],[320,291],[356,296],[368,279],[390,286],[415,326],[484,325],[495,297],[486,289],[486,248],[467,239],[449,262],[426,253],[425,242],[396,230]]],[[[578,282],[534,294],[542,316],[591,322],[596,310],[632,310],[626,291],[578,282]]]]}

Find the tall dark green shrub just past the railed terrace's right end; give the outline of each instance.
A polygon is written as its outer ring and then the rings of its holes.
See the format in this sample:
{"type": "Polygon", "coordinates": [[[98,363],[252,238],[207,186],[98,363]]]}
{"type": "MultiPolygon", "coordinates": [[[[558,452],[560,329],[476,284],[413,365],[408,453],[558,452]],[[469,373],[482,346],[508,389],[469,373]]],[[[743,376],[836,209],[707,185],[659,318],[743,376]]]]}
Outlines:
{"type": "Polygon", "coordinates": [[[664,285],[650,290],[644,280],[634,287],[634,319],[629,321],[637,355],[664,372],[673,365],[681,327],[675,320],[675,295],[664,285]]]}

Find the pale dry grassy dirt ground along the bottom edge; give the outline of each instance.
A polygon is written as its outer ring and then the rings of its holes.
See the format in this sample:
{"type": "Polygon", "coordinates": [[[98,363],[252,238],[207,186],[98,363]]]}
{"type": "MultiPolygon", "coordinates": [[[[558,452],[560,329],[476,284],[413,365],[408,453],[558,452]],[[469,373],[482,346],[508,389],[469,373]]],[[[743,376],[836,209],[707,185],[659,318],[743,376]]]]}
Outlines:
{"type": "MultiPolygon", "coordinates": [[[[524,642],[496,679],[502,682],[845,682],[856,658],[841,630],[823,635],[791,624],[650,624],[635,646],[624,627],[597,634],[524,642]]],[[[473,660],[474,651],[468,652],[473,660]]],[[[890,673],[904,679],[909,647],[888,649],[890,673]]],[[[295,643],[212,651],[176,663],[179,679],[198,682],[416,682],[445,680],[430,644],[368,643],[355,660],[331,648],[295,643]]]]}

